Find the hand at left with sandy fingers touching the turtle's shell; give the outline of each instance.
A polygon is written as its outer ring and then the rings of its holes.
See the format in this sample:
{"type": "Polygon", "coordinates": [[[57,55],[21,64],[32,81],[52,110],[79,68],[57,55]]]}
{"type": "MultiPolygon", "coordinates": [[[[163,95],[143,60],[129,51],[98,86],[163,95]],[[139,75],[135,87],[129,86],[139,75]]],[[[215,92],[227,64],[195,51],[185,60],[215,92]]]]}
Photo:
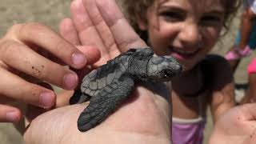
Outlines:
{"type": "Polygon", "coordinates": [[[82,53],[39,23],[12,26],[0,39],[0,122],[18,122],[21,118],[18,108],[8,106],[13,101],[43,108],[54,106],[56,95],[40,86],[42,82],[73,90],[78,76],[63,65],[80,69],[97,61],[97,54],[99,57],[98,50],[89,46],[82,53]]]}

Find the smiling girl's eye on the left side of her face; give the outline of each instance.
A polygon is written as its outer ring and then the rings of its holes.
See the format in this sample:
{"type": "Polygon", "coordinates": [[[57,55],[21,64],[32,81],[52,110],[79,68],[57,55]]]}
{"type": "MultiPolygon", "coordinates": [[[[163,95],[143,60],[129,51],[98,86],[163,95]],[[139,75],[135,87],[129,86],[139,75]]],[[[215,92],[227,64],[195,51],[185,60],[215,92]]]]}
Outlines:
{"type": "Polygon", "coordinates": [[[167,22],[180,22],[185,19],[184,14],[172,11],[164,11],[159,14],[167,22]]]}

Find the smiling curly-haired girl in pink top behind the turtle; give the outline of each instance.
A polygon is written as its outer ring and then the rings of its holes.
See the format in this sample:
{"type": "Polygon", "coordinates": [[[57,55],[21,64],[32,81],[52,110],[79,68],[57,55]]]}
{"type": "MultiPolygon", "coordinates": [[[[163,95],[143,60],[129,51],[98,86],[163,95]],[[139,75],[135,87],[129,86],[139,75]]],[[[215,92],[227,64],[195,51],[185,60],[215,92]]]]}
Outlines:
{"type": "Polygon", "coordinates": [[[155,54],[183,66],[172,80],[174,144],[202,143],[206,106],[214,122],[234,106],[232,70],[225,58],[209,55],[238,0],[124,0],[131,25],[155,54]]]}

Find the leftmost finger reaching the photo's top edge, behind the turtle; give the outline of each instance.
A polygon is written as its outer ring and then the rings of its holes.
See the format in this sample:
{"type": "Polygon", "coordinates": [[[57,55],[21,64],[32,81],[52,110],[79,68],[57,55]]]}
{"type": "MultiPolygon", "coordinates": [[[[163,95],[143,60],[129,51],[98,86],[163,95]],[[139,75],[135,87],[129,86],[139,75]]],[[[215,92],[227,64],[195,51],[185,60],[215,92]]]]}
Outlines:
{"type": "Polygon", "coordinates": [[[74,26],[78,30],[78,35],[82,46],[94,46],[101,52],[101,59],[98,65],[106,63],[110,60],[110,55],[104,46],[102,39],[99,37],[98,31],[91,22],[85,7],[82,5],[82,0],[74,0],[70,5],[70,11],[74,26]]]}

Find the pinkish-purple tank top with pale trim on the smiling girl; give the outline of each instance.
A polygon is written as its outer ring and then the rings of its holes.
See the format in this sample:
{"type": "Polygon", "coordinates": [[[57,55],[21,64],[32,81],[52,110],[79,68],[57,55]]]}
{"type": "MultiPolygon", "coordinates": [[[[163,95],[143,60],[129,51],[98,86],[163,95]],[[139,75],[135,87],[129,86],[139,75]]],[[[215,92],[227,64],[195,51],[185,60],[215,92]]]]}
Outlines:
{"type": "Polygon", "coordinates": [[[202,144],[205,125],[206,120],[201,117],[189,120],[173,118],[173,144],[202,144]]]}

